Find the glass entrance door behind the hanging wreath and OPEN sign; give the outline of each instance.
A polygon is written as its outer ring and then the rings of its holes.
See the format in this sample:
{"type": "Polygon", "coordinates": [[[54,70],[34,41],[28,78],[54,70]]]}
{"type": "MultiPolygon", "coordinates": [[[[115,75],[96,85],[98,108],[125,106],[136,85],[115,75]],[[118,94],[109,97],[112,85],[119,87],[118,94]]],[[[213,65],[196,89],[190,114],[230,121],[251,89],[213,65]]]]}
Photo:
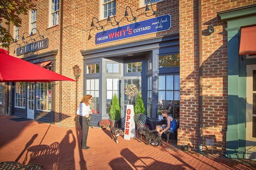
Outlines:
{"type": "Polygon", "coordinates": [[[135,105],[137,99],[137,96],[130,98],[125,94],[126,85],[129,84],[136,85],[136,87],[138,87],[138,89],[141,91],[141,77],[122,77],[121,79],[121,118],[123,118],[126,114],[126,105],[135,105]]]}

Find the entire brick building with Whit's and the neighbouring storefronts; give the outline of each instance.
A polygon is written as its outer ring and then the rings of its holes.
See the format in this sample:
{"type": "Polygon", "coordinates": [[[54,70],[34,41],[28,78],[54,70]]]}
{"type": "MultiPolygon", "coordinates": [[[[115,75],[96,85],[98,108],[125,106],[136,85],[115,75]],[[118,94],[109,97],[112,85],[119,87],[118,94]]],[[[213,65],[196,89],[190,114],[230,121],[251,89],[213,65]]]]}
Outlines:
{"type": "Polygon", "coordinates": [[[77,81],[2,83],[1,114],[74,126],[82,96],[91,94],[97,113],[92,123],[97,125],[108,119],[114,93],[124,117],[126,105],[133,102],[124,89],[133,83],[142,93],[148,123],[159,109],[168,109],[175,119],[180,116],[178,145],[230,158],[255,158],[251,77],[256,52],[240,49],[253,44],[240,40],[248,34],[246,28],[255,30],[254,0],[62,2],[37,0],[36,12],[21,16],[22,27],[10,26],[14,38],[17,30],[20,36],[9,51],[77,81]],[[38,31],[30,37],[26,33],[35,26],[35,13],[38,31]],[[26,46],[23,35],[25,42],[47,39],[48,46],[17,52],[18,44],[26,46]],[[28,87],[34,87],[35,94],[30,109],[24,104],[29,103],[28,87]],[[18,88],[25,97],[17,95],[18,88]]]}

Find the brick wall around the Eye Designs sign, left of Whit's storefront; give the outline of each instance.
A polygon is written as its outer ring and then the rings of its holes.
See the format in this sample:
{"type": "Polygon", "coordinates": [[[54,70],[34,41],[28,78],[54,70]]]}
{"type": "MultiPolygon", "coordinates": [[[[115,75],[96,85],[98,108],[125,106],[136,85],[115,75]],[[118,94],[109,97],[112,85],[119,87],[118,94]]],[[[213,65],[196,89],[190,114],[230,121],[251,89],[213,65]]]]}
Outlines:
{"type": "MultiPolygon", "coordinates": [[[[44,38],[49,39],[49,46],[46,49],[38,50],[33,53],[20,55],[23,58],[34,54],[40,54],[47,51],[58,49],[55,61],[55,71],[60,73],[60,18],[59,24],[48,28],[49,5],[48,0],[37,0],[37,29],[44,38]]],[[[60,4],[61,6],[61,4],[60,4]]],[[[62,42],[62,75],[76,79],[74,75],[74,67],[80,69],[80,77],[77,82],[62,81],[62,125],[74,126],[77,123],[76,109],[83,97],[83,57],[80,50],[85,48],[85,21],[86,21],[86,3],[80,0],[70,0],[64,3],[63,14],[63,42],[62,42]]],[[[20,27],[20,35],[28,32],[27,16],[20,16],[22,18],[22,27],[20,27]]],[[[60,17],[60,16],[59,16],[60,17]]],[[[10,26],[10,33],[13,34],[13,26],[10,26]]],[[[27,35],[27,34],[25,34],[27,35]]],[[[38,34],[35,34],[38,36],[38,34]]],[[[26,37],[25,37],[26,38],[26,37]]],[[[27,37],[28,38],[28,37],[27,37]]],[[[19,40],[21,41],[21,40],[19,40]]],[[[18,42],[19,43],[19,42],[18,42]]],[[[13,53],[17,45],[12,43],[10,45],[10,55],[16,56],[13,53]]],[[[56,101],[55,101],[55,121],[59,122],[60,111],[60,81],[56,81],[56,101]]],[[[1,108],[1,106],[0,106],[1,108]]],[[[2,111],[1,111],[2,113],[2,111]]]]}

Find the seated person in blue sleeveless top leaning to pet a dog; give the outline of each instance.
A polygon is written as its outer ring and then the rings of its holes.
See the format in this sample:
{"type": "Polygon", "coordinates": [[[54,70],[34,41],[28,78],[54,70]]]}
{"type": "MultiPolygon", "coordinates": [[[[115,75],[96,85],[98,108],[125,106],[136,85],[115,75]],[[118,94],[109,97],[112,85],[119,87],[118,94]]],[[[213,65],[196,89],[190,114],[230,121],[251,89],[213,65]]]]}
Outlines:
{"type": "Polygon", "coordinates": [[[172,132],[175,131],[176,129],[176,121],[171,115],[168,115],[167,110],[162,110],[162,116],[166,118],[167,120],[167,125],[157,125],[156,126],[156,131],[158,131],[158,135],[161,136],[163,132],[166,130],[170,129],[172,132]]]}

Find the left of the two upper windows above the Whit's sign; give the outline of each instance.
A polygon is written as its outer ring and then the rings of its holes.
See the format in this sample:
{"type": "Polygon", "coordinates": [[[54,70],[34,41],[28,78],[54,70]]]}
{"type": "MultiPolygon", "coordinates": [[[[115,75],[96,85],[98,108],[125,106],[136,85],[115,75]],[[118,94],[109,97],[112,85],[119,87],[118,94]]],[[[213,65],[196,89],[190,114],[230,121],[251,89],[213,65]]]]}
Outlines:
{"type": "Polygon", "coordinates": [[[102,0],[102,17],[101,19],[107,18],[108,16],[116,15],[116,0],[102,0]]]}

